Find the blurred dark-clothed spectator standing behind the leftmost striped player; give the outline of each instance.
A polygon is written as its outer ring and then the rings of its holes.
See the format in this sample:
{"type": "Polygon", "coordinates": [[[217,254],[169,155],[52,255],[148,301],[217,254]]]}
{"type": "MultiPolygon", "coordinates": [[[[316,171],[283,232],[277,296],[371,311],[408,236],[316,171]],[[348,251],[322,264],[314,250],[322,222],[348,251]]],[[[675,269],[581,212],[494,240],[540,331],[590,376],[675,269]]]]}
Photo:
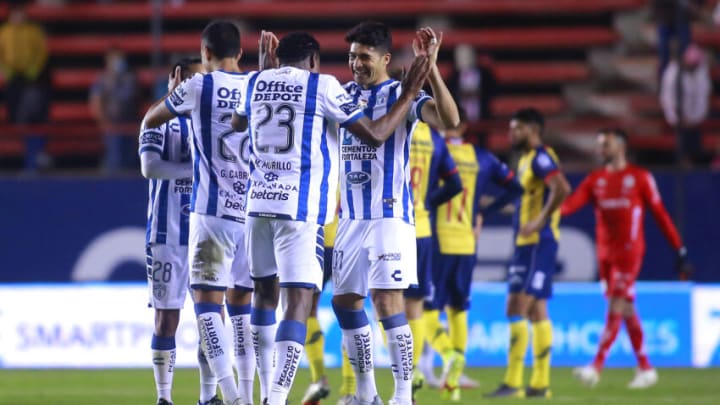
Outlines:
{"type": "Polygon", "coordinates": [[[138,88],[125,54],[110,49],[105,71],[90,89],[90,110],[103,131],[104,169],[116,171],[137,166],[132,126],[138,124],[138,88]]]}

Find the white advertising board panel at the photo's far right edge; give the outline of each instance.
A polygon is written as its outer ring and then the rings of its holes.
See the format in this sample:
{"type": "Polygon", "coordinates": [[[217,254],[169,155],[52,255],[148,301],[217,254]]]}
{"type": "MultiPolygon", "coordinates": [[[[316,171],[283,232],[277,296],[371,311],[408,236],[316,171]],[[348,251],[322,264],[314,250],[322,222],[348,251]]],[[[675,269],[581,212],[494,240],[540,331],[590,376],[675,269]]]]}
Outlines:
{"type": "Polygon", "coordinates": [[[692,291],[693,366],[720,365],[720,288],[692,291]]]}

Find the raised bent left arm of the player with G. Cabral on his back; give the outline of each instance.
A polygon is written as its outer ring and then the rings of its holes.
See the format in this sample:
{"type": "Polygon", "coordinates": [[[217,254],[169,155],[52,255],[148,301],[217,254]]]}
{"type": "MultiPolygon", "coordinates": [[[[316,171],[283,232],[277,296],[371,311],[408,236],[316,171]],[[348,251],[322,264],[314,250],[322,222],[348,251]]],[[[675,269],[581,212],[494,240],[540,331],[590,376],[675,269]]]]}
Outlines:
{"type": "Polygon", "coordinates": [[[195,107],[195,87],[202,80],[202,75],[196,73],[192,78],[180,83],[181,75],[175,72],[175,87],[165,97],[153,103],[143,118],[143,127],[157,128],[178,115],[185,114],[195,107]]]}

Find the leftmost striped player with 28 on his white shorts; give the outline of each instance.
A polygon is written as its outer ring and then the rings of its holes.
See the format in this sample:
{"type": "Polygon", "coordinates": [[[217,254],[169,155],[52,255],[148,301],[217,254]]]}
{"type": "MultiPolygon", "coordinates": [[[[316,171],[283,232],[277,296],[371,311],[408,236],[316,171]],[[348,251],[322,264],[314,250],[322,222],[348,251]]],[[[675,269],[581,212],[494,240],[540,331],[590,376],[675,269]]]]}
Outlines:
{"type": "MultiPolygon", "coordinates": [[[[168,90],[204,73],[200,58],[178,61],[168,77],[168,90]]],[[[149,305],[155,308],[155,332],[150,344],[158,405],[172,405],[175,371],[175,333],[188,283],[187,241],[190,219],[192,165],[188,144],[190,120],[180,116],[159,128],[143,128],[139,138],[140,168],[149,180],[147,221],[147,277],[149,305]]],[[[217,381],[200,363],[200,403],[222,405],[215,395],[217,381]]]]}

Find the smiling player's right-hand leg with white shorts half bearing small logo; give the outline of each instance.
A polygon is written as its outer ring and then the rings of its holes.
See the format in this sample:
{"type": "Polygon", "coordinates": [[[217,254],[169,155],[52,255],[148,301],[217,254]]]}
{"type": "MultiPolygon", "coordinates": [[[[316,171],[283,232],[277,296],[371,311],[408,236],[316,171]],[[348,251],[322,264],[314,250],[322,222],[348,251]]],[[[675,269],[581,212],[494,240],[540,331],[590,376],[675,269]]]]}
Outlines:
{"type": "Polygon", "coordinates": [[[399,219],[374,221],[370,280],[373,306],[387,334],[395,391],[391,403],[412,403],[413,338],[403,291],[417,285],[415,227],[399,219]]]}

